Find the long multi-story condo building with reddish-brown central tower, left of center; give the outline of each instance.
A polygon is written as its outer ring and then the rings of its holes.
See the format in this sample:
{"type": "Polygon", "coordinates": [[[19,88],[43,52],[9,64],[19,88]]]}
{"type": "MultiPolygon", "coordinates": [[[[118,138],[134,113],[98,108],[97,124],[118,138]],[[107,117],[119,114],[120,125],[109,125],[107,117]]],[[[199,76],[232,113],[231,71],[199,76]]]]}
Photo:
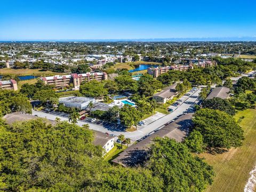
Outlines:
{"type": "Polygon", "coordinates": [[[102,81],[108,79],[107,73],[86,73],[86,74],[71,74],[71,75],[55,75],[51,77],[41,77],[45,84],[53,85],[54,87],[65,87],[73,83],[75,89],[78,89],[83,81],[89,82],[92,80],[102,81]]]}

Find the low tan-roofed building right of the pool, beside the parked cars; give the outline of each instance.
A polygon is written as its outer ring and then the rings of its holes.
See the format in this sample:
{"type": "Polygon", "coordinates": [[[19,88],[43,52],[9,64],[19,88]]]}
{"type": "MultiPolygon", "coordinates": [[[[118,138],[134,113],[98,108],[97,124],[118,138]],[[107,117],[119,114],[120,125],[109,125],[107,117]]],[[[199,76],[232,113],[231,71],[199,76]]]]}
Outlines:
{"type": "Polygon", "coordinates": [[[153,95],[153,99],[159,103],[166,103],[167,101],[173,99],[177,95],[175,89],[177,83],[172,84],[171,86],[166,87],[161,92],[158,92],[153,95]]]}

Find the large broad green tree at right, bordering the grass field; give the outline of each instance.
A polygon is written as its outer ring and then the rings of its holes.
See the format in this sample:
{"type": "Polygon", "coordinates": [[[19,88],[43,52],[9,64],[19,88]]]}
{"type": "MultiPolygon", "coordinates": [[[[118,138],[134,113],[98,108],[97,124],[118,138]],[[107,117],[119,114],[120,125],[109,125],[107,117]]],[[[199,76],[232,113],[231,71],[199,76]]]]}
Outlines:
{"type": "Polygon", "coordinates": [[[194,130],[199,131],[207,147],[231,148],[242,145],[243,130],[227,113],[214,109],[200,109],[194,118],[194,130]]]}

